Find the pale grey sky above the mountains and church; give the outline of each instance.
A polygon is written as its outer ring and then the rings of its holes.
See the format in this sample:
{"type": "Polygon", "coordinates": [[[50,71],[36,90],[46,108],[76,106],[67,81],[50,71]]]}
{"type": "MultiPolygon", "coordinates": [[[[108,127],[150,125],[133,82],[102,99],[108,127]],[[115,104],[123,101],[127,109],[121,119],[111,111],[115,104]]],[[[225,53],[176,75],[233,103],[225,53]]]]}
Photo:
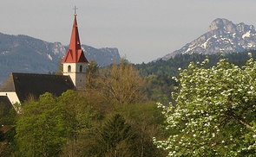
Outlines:
{"type": "Polygon", "coordinates": [[[255,0],[0,0],[0,32],[68,45],[74,6],[82,44],[149,62],[207,32],[216,18],[256,26],[255,0]]]}

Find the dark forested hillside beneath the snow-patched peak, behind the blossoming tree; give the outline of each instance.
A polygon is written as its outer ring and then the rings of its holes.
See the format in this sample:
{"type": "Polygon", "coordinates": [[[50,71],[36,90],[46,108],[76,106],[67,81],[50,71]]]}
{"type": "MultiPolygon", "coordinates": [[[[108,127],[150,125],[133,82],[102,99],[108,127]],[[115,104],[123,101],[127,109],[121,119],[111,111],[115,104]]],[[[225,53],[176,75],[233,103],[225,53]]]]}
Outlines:
{"type": "MultiPolygon", "coordinates": [[[[253,55],[253,59],[256,60],[256,51],[250,51],[253,55]]],[[[172,79],[177,77],[180,73],[178,70],[187,69],[190,62],[202,62],[209,59],[207,67],[216,65],[221,58],[227,59],[229,62],[237,66],[246,65],[246,60],[249,60],[248,52],[242,53],[226,53],[221,55],[220,53],[205,55],[199,53],[193,54],[179,54],[171,58],[170,60],[156,60],[147,64],[137,64],[135,67],[140,71],[141,76],[147,80],[145,86],[145,94],[150,97],[151,100],[168,104],[173,101],[171,93],[174,90],[174,86],[179,84],[172,79]]]]}

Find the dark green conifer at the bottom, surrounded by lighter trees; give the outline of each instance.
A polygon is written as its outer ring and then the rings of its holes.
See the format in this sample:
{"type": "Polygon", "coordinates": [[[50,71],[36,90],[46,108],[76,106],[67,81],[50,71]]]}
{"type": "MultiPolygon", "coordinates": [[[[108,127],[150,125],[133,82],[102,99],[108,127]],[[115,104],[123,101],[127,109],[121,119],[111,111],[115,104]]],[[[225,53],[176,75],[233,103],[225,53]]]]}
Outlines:
{"type": "Polygon", "coordinates": [[[133,141],[135,134],[125,119],[116,114],[108,119],[96,140],[97,156],[135,156],[133,141]]]}

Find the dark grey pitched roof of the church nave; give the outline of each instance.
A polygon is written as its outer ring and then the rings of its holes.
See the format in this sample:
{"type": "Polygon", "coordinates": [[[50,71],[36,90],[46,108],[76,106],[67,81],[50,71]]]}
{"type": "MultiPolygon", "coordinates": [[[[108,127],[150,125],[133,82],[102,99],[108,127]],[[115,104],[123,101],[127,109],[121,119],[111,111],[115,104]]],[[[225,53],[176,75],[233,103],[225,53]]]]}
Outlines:
{"type": "Polygon", "coordinates": [[[10,73],[0,89],[0,91],[16,91],[21,102],[31,96],[37,99],[45,92],[58,97],[67,90],[75,90],[75,85],[69,76],[16,72],[10,73]]]}

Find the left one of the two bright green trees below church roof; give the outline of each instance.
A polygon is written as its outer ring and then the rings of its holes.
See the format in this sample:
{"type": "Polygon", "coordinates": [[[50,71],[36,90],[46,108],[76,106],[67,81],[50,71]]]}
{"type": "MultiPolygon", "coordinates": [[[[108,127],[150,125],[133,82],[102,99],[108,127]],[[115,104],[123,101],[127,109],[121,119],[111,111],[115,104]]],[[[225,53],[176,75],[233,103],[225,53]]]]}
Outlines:
{"type": "Polygon", "coordinates": [[[16,140],[22,156],[56,156],[66,141],[61,108],[50,93],[27,102],[16,123],[16,140]]]}

